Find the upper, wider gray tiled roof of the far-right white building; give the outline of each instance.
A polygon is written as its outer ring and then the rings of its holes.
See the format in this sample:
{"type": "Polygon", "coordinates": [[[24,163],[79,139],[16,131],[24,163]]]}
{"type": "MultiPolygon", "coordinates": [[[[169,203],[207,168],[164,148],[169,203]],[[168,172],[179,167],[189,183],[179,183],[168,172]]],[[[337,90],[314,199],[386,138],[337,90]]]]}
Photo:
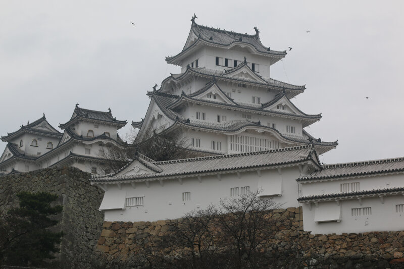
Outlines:
{"type": "Polygon", "coordinates": [[[366,162],[325,165],[320,171],[300,177],[297,181],[325,180],[376,174],[404,172],[404,157],[369,160],[366,162]]]}

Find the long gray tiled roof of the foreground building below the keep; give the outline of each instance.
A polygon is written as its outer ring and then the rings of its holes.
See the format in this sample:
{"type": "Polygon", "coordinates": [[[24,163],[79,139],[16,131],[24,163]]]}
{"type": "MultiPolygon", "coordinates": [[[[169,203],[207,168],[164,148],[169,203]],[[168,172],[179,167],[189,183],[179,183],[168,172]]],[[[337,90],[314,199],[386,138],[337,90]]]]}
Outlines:
{"type": "Polygon", "coordinates": [[[173,176],[188,176],[205,173],[226,172],[249,168],[277,167],[292,165],[312,160],[318,163],[317,156],[311,145],[281,148],[275,150],[247,152],[239,154],[217,155],[190,159],[169,160],[149,163],[158,167],[162,172],[135,175],[107,175],[93,177],[91,182],[113,182],[132,179],[164,178],[173,176]]]}

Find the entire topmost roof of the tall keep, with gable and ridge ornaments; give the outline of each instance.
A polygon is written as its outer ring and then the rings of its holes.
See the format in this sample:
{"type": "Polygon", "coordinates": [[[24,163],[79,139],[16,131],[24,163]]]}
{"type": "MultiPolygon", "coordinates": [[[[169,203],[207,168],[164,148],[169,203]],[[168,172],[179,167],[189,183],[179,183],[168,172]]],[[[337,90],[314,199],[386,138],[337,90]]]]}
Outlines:
{"type": "Polygon", "coordinates": [[[271,50],[270,47],[264,46],[260,41],[258,29],[256,30],[255,35],[249,35],[247,33],[242,34],[233,31],[221,30],[218,28],[215,29],[213,27],[199,25],[192,21],[187,42],[182,48],[182,51],[175,56],[166,57],[166,61],[170,64],[178,65],[180,59],[182,59],[185,55],[188,54],[188,52],[192,51],[200,44],[220,46],[225,48],[230,48],[237,44],[242,46],[247,45],[260,55],[277,59],[274,62],[280,60],[281,58],[284,58],[287,54],[286,50],[271,50]],[[191,40],[189,40],[191,36],[197,37],[193,43],[191,43],[191,40]]]}

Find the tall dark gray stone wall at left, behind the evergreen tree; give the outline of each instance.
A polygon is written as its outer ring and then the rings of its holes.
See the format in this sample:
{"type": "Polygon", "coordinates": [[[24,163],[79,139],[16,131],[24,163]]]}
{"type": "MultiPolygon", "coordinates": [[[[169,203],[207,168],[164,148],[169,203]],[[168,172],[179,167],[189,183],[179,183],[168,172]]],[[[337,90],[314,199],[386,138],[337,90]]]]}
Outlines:
{"type": "Polygon", "coordinates": [[[98,211],[104,192],[90,185],[90,176],[67,166],[1,176],[0,201],[9,196],[11,202],[18,205],[15,194],[20,191],[57,194],[56,203],[63,205],[63,212],[56,216],[59,220],[57,229],[65,233],[57,259],[72,267],[74,263],[74,266],[85,268],[90,260],[98,258],[93,250],[104,221],[104,213],[98,211]]]}

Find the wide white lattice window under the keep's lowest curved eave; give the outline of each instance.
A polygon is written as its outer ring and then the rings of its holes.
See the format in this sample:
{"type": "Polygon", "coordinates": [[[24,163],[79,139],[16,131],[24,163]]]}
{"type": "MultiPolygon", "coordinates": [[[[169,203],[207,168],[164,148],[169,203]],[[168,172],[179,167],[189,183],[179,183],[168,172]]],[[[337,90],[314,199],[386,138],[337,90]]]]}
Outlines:
{"type": "Polygon", "coordinates": [[[279,141],[267,138],[232,135],[229,139],[229,150],[231,151],[251,152],[279,148],[279,141]]]}

